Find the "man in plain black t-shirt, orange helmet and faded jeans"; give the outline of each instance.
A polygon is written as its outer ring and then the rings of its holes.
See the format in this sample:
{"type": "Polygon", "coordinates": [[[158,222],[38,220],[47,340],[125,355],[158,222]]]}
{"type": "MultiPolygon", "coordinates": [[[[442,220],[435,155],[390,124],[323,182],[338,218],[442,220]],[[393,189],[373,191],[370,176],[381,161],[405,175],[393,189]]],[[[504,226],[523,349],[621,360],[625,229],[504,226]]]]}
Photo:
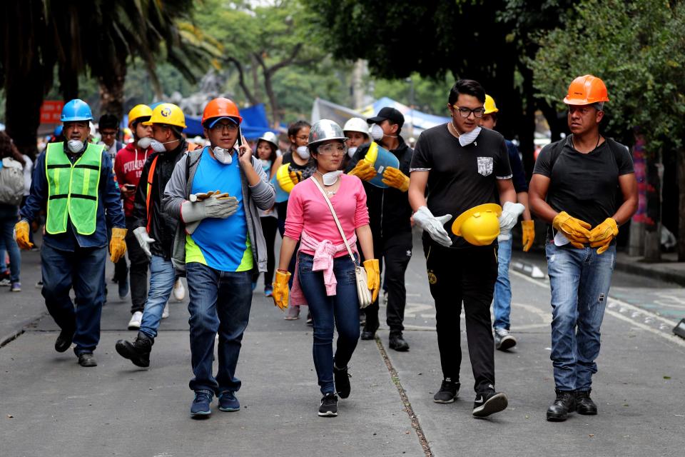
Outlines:
{"type": "Polygon", "coordinates": [[[574,410],[597,414],[590,391],[616,263],[614,238],[637,209],[628,149],[599,134],[605,101],[601,79],[574,79],[564,98],[572,134],[542,149],[530,182],[531,210],[550,224],[545,251],[557,397],[547,408],[548,421],[565,421],[574,410]]]}

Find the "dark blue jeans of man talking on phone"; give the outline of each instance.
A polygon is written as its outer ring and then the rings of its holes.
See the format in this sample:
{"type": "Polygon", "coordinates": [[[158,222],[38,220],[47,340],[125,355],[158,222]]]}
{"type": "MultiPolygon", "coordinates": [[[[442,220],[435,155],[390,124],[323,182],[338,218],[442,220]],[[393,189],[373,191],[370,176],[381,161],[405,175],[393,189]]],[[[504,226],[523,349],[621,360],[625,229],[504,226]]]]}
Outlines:
{"type": "Polygon", "coordinates": [[[191,318],[193,391],[236,392],[235,377],[243,332],[252,305],[252,271],[219,271],[198,262],[186,263],[188,311],[191,318]],[[214,338],[219,333],[219,371],[212,376],[214,338]]]}

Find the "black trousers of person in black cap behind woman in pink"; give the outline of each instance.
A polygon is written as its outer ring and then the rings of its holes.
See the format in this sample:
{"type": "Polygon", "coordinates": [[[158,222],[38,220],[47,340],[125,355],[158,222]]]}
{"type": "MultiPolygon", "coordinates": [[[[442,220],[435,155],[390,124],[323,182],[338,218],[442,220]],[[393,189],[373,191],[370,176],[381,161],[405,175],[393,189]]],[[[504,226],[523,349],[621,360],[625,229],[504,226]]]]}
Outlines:
{"type": "MultiPolygon", "coordinates": [[[[374,237],[374,256],[378,259],[380,271],[385,263],[384,281],[387,286],[386,322],[390,327],[390,334],[402,333],[405,327],[405,304],[407,303],[407,288],[405,288],[405,271],[412,258],[412,232],[395,233],[387,238],[374,237]]],[[[366,312],[366,331],[376,331],[378,328],[378,298],[364,310],[366,312]]]]}

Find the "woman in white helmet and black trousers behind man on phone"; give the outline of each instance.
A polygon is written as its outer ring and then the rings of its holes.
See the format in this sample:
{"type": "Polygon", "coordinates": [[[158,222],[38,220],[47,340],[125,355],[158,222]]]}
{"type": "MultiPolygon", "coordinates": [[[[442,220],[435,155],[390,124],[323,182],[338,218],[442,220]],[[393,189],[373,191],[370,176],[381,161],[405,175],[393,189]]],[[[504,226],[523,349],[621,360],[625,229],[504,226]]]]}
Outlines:
{"type": "MultiPolygon", "coordinates": [[[[273,163],[276,160],[276,151],[278,151],[278,137],[273,131],[268,131],[257,140],[257,157],[262,163],[262,168],[269,179],[273,178],[273,163]]],[[[262,233],[266,241],[267,262],[266,271],[264,273],[264,295],[270,297],[273,293],[273,268],[275,267],[275,253],[273,251],[274,243],[276,241],[276,231],[278,230],[278,214],[276,214],[275,206],[270,209],[259,210],[259,221],[262,224],[262,233]]],[[[259,271],[255,270],[252,276],[252,288],[254,290],[257,286],[257,279],[259,278],[259,271]]]]}

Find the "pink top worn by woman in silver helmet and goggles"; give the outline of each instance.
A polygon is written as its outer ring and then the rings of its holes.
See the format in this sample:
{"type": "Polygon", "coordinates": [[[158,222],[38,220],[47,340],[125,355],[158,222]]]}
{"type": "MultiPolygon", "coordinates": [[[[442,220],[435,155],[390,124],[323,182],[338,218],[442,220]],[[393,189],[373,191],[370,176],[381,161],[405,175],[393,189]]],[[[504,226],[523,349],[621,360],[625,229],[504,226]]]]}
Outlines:
{"type": "MultiPolygon", "coordinates": [[[[335,226],[333,215],[316,184],[305,179],[290,191],[288,199],[288,216],[285,218],[285,236],[300,239],[303,230],[321,242],[328,240],[333,244],[342,243],[340,231],[335,226]]],[[[357,227],[369,223],[369,210],[366,207],[366,192],[362,181],[357,176],[340,175],[340,187],[334,196],[329,196],[335,213],[342,226],[342,231],[349,239],[357,227]]],[[[304,253],[314,255],[314,251],[302,249],[304,253]]],[[[347,256],[347,251],[336,254],[336,257],[347,256]]]]}

